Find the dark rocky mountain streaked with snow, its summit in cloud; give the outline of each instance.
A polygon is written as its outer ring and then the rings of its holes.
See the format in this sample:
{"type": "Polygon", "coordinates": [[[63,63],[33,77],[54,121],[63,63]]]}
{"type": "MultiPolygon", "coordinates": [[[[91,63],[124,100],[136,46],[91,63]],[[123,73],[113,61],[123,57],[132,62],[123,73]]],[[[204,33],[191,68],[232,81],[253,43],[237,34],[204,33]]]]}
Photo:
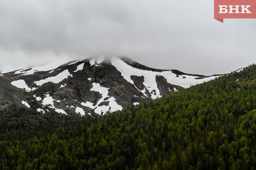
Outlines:
{"type": "Polygon", "coordinates": [[[99,56],[3,73],[0,96],[5,102],[42,112],[106,114],[218,76],[153,69],[127,57],[99,56]]]}

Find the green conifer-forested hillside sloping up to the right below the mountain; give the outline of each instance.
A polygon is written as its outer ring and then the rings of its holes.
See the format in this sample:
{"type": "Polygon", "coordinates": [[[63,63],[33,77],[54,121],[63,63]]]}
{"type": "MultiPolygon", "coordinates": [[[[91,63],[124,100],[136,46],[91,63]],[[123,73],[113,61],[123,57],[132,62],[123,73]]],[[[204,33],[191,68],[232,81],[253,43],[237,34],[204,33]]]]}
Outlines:
{"type": "Polygon", "coordinates": [[[98,117],[0,111],[0,169],[255,169],[256,65],[98,117]]]}

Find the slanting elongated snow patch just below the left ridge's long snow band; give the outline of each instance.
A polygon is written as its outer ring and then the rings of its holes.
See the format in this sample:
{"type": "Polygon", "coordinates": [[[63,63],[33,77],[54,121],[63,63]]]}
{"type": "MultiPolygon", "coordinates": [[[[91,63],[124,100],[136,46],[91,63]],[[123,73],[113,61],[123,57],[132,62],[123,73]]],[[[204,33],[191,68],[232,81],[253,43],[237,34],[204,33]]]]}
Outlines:
{"type": "Polygon", "coordinates": [[[67,79],[68,76],[72,77],[72,74],[70,74],[68,72],[68,70],[62,71],[60,74],[58,74],[57,76],[53,76],[53,77],[48,77],[46,79],[42,79],[39,81],[35,81],[34,83],[37,84],[37,86],[42,86],[44,83],[47,82],[52,82],[52,83],[60,83],[60,81],[63,81],[64,79],[67,79]]]}

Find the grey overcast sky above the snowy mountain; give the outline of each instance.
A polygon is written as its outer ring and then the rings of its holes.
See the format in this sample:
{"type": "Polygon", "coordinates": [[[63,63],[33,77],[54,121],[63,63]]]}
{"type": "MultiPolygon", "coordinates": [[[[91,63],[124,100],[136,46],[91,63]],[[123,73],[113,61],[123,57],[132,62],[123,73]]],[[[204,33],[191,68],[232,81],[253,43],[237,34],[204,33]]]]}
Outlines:
{"type": "Polygon", "coordinates": [[[98,54],[157,69],[256,63],[256,19],[214,20],[213,0],[0,0],[0,70],[98,54]]]}

